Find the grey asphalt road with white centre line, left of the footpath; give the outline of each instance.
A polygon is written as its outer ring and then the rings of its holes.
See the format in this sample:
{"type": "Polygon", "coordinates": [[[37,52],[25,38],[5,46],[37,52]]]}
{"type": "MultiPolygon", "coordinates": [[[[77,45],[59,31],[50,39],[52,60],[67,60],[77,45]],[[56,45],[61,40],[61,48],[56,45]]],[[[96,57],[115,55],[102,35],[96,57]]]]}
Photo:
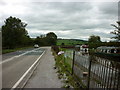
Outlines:
{"type": "Polygon", "coordinates": [[[2,88],[12,88],[44,51],[44,48],[31,48],[4,54],[2,88]]]}

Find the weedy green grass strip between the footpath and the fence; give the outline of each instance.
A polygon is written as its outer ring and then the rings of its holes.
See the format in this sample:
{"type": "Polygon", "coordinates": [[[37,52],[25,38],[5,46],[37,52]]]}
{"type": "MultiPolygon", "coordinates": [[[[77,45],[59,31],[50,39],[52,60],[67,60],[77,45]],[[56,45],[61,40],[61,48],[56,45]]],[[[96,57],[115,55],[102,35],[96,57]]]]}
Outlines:
{"type": "MultiPolygon", "coordinates": [[[[58,68],[58,78],[63,79],[65,85],[63,88],[79,88],[77,80],[74,79],[74,76],[71,75],[71,65],[68,63],[70,61],[65,60],[64,55],[56,55],[53,51],[53,55],[55,56],[55,66],[58,68]]],[[[68,59],[68,58],[67,58],[68,59]]]]}

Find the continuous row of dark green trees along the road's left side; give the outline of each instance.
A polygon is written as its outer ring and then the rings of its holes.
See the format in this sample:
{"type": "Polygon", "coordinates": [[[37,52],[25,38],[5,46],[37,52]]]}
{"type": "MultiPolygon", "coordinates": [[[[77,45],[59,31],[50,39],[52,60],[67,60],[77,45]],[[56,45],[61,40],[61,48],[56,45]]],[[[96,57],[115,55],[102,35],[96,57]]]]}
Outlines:
{"type": "Polygon", "coordinates": [[[57,35],[55,33],[50,32],[33,39],[28,35],[26,26],[27,24],[19,18],[12,16],[7,18],[1,27],[3,49],[13,49],[34,44],[39,44],[40,46],[56,45],[57,35]]]}

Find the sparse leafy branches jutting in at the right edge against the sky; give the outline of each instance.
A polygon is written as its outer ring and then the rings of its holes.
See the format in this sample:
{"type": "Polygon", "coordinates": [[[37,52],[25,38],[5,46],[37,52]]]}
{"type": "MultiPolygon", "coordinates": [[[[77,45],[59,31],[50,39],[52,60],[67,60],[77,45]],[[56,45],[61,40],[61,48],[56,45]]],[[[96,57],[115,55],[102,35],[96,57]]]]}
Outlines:
{"type": "Polygon", "coordinates": [[[115,27],[117,30],[114,30],[113,32],[110,32],[111,34],[114,34],[115,36],[112,37],[116,39],[118,42],[120,42],[120,21],[117,21],[118,26],[111,24],[111,26],[115,27]]]}

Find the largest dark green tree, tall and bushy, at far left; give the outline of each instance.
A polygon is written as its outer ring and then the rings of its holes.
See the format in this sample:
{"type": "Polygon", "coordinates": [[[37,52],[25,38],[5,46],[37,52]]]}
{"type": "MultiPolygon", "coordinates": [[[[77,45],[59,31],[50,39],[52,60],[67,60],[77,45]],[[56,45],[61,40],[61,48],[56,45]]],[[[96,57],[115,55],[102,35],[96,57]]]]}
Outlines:
{"type": "Polygon", "coordinates": [[[10,16],[5,20],[2,26],[2,43],[3,47],[15,48],[24,45],[28,40],[28,33],[25,29],[26,23],[23,23],[19,18],[10,16]]]}

